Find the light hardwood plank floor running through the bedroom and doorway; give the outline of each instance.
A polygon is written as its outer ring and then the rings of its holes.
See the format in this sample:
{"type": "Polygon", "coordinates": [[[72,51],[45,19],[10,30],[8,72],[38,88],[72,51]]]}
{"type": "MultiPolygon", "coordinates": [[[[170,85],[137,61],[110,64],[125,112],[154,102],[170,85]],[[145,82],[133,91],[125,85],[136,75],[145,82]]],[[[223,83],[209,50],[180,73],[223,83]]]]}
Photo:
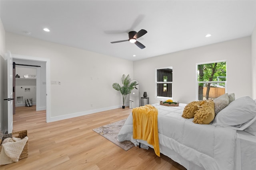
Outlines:
{"type": "Polygon", "coordinates": [[[13,131],[28,131],[28,158],[1,170],[186,170],[153,149],[125,151],[92,129],[127,118],[132,109],[113,109],[46,123],[36,106],[16,107],[13,131]]]}

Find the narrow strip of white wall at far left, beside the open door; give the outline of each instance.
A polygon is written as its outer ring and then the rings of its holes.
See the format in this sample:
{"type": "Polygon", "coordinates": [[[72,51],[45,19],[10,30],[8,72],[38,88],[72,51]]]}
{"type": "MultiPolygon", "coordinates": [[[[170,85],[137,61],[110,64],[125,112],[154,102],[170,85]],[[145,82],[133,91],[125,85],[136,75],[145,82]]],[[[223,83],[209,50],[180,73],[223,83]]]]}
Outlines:
{"type": "Polygon", "coordinates": [[[4,59],[5,48],[5,30],[2,20],[0,20],[0,129],[5,133],[8,130],[8,115],[6,113],[7,103],[4,98],[7,98],[7,85],[4,84],[7,80],[7,62],[4,59]]]}

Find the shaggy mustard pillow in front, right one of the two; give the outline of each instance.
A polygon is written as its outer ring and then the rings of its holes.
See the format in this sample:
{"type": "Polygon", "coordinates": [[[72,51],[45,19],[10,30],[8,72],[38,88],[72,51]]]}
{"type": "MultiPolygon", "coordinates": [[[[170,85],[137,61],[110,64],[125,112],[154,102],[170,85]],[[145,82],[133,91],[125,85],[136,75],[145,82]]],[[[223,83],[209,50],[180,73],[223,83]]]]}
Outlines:
{"type": "Polygon", "coordinates": [[[205,101],[194,115],[194,123],[209,124],[215,117],[214,102],[211,100],[205,101]]]}

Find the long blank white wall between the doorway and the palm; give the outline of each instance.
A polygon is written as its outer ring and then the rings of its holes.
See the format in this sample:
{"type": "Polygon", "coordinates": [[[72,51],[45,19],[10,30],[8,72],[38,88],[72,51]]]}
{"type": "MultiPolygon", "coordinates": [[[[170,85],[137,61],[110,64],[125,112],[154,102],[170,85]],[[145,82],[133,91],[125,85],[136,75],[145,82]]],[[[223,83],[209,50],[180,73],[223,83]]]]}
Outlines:
{"type": "MultiPolygon", "coordinates": [[[[122,74],[133,79],[133,62],[6,32],[6,49],[12,54],[50,59],[51,117],[95,113],[122,106],[112,83],[122,74]]],[[[126,106],[129,100],[126,100],[126,106]]]]}

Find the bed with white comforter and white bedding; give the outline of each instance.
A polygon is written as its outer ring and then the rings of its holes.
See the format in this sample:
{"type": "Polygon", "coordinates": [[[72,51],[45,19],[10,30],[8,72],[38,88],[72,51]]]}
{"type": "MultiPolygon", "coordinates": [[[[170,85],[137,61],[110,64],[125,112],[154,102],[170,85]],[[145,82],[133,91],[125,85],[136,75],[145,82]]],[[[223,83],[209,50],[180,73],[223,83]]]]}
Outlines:
{"type": "MultiPolygon", "coordinates": [[[[217,103],[218,100],[216,106],[217,103]]],[[[219,103],[223,104],[223,101],[219,103]]],[[[209,124],[194,123],[193,118],[182,117],[187,105],[152,105],[158,110],[159,149],[162,154],[188,170],[255,170],[256,100],[244,96],[228,102],[209,124]],[[250,106],[247,106],[248,101],[250,106]],[[226,122],[225,116],[229,117],[226,122]],[[239,120],[236,122],[236,119],[239,120]]],[[[144,149],[154,148],[146,141],[133,139],[132,113],[118,134],[118,141],[126,140],[135,146],[141,144],[144,149]]]]}

